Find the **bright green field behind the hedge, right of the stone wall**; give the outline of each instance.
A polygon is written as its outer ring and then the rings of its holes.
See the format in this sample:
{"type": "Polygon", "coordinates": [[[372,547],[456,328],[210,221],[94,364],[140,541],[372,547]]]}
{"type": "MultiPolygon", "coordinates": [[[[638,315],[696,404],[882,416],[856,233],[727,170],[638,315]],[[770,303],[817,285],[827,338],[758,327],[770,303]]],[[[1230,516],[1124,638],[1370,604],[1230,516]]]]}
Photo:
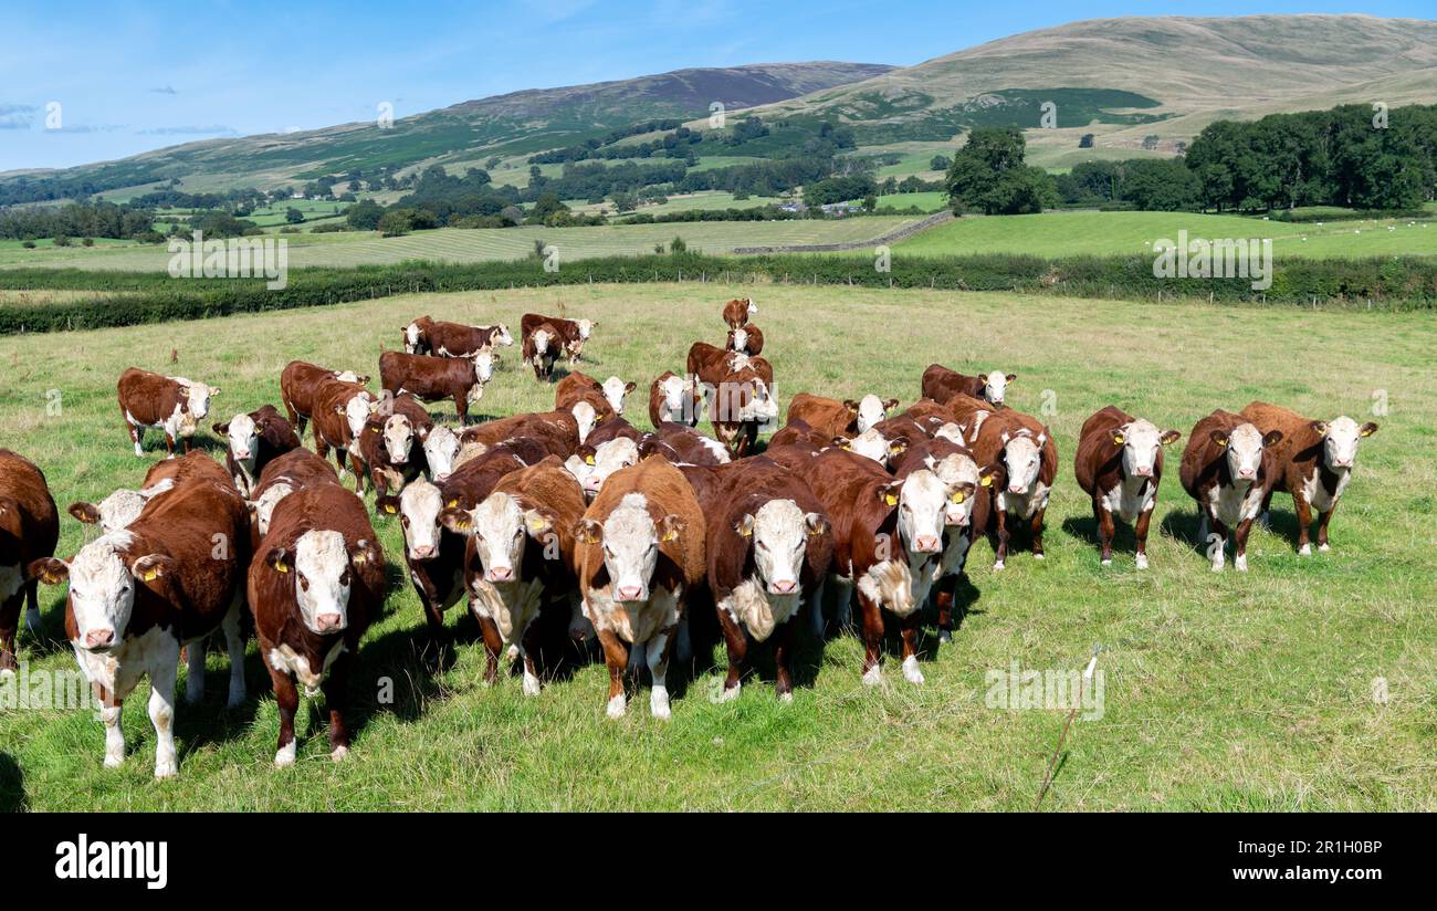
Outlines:
{"type": "Polygon", "coordinates": [[[1334,221],[1318,227],[1244,216],[1092,211],[957,218],[900,241],[894,251],[918,256],[1145,253],[1157,240],[1175,243],[1183,228],[1188,239],[1272,237],[1273,256],[1437,256],[1437,224],[1431,221],[1415,226],[1405,220],[1334,221]]]}

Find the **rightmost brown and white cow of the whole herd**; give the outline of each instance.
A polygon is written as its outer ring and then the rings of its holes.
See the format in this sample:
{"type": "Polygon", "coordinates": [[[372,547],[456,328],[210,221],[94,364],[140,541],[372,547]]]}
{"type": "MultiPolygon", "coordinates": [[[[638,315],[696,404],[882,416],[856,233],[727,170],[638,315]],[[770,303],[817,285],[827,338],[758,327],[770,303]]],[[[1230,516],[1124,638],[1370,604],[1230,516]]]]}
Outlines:
{"type": "MultiPolygon", "coordinates": [[[[1282,433],[1275,453],[1282,477],[1273,484],[1273,490],[1282,487],[1292,494],[1292,506],[1298,512],[1298,553],[1312,553],[1312,510],[1318,510],[1318,550],[1329,550],[1328,523],[1352,480],[1358,443],[1375,434],[1377,424],[1367,421],[1358,425],[1345,414],[1332,421],[1319,421],[1267,402],[1252,402],[1243,408],[1242,415],[1263,433],[1282,433]]],[[[1270,507],[1272,493],[1263,501],[1263,517],[1270,507]]]]}

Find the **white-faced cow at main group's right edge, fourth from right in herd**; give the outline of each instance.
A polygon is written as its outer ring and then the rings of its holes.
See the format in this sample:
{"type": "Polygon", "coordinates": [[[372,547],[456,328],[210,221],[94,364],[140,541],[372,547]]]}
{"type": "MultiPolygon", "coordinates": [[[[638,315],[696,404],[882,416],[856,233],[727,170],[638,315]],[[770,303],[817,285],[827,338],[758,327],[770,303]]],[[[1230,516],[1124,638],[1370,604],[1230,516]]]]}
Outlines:
{"type": "Polygon", "coordinates": [[[1026,522],[1032,532],[1033,558],[1043,559],[1043,516],[1048,497],[1058,477],[1058,447],[1042,421],[1004,408],[983,421],[973,441],[974,461],[996,466],[1000,481],[992,486],[997,546],[993,569],[1007,560],[1015,520],[1026,522]]]}

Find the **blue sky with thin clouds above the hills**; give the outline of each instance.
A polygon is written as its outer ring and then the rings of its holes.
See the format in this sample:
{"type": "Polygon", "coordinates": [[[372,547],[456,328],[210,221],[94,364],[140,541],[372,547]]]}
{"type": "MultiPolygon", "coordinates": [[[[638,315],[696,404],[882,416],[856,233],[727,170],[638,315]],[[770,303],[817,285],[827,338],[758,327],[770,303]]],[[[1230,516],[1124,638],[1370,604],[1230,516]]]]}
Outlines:
{"type": "Polygon", "coordinates": [[[69,3],[0,11],[0,171],[395,116],[526,88],[775,60],[911,65],[1108,16],[1351,13],[1433,0],[69,3]],[[59,102],[62,129],[46,129],[59,102]]]}

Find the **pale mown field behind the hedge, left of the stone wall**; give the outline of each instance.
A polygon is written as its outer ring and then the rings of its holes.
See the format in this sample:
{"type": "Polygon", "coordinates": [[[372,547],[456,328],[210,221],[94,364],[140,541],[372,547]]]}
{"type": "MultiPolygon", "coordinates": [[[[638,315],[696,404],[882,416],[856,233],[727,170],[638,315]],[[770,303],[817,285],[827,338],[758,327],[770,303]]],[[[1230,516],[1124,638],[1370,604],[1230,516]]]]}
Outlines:
{"type": "MultiPolygon", "coordinates": [[[[405,237],[374,233],[289,236],[289,264],[366,266],[404,260],[481,262],[523,259],[543,240],[560,262],[592,256],[652,253],[654,244],[683,237],[691,250],[729,253],[760,244],[818,244],[879,237],[915,217],[845,218],[818,221],[707,221],[691,224],[632,224],[589,228],[520,227],[504,230],[440,228],[405,237]]],[[[0,250],[0,266],[73,266],[79,269],[162,270],[170,262],[164,246],[122,250],[0,250]]]]}

